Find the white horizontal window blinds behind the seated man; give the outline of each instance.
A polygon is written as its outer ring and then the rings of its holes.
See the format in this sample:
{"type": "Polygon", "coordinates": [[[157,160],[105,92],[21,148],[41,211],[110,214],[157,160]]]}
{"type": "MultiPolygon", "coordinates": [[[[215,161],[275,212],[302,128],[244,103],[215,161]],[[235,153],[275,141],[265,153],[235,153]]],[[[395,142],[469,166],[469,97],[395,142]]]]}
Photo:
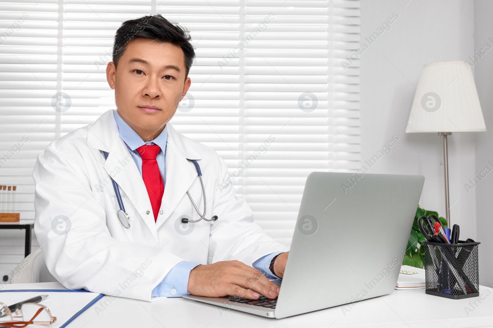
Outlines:
{"type": "Polygon", "coordinates": [[[187,27],[196,47],[171,123],[218,151],[231,173],[219,188],[233,183],[269,235],[289,243],[310,172],[360,166],[359,61],[341,66],[359,47],[359,0],[0,3],[0,158],[29,138],[0,161],[0,184],[19,186],[22,220],[34,218],[37,154],[115,108],[114,32],[149,13],[187,27]]]}

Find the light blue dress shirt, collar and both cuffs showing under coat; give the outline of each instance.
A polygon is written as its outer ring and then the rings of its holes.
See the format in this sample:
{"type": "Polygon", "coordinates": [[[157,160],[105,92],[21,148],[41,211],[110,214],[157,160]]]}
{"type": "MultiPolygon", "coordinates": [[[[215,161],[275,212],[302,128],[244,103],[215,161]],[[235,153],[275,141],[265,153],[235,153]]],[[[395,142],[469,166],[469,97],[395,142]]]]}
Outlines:
{"type": "MultiPolygon", "coordinates": [[[[166,167],[165,167],[165,156],[166,156],[166,142],[168,140],[168,129],[167,126],[164,127],[163,131],[154,140],[144,142],[142,138],[137,134],[127,124],[115,110],[113,111],[113,116],[118,126],[118,132],[120,138],[125,142],[127,148],[134,158],[135,164],[142,175],[142,158],[137,148],[143,145],[158,145],[161,150],[156,156],[157,164],[159,166],[159,172],[163,178],[163,183],[166,187],[166,167]]],[[[257,261],[253,262],[253,268],[261,271],[268,278],[279,278],[274,275],[269,269],[272,259],[282,252],[275,252],[269,255],[263,256],[257,261]]],[[[157,285],[151,293],[151,297],[161,296],[161,297],[181,297],[188,294],[188,277],[190,276],[190,271],[200,265],[200,263],[193,262],[180,262],[176,264],[164,277],[164,279],[157,285]]]]}

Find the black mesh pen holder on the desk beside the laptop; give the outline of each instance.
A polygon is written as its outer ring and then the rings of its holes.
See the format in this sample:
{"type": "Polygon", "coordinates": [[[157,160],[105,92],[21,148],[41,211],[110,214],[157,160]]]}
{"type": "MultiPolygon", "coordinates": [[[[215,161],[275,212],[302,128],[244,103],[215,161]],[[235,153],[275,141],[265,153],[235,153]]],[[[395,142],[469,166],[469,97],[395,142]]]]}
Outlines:
{"type": "Polygon", "coordinates": [[[478,245],[423,241],[426,290],[429,295],[460,299],[479,296],[478,245]]]}

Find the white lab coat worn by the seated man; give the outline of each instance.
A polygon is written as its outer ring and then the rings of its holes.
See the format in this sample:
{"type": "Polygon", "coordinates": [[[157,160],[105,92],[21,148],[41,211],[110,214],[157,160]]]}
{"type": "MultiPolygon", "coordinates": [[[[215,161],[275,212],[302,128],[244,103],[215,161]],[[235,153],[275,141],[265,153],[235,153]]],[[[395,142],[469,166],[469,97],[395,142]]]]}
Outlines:
{"type": "Polygon", "coordinates": [[[251,266],[264,255],[286,250],[253,223],[251,209],[235,195],[231,184],[221,190],[219,185],[228,177],[224,160],[213,149],[177,133],[169,123],[166,186],[156,222],[112,110],[94,124],[52,142],[39,154],[33,177],[35,234],[49,271],[70,289],[155,300],[152,289],[181,261],[238,260],[251,266]],[[102,150],[109,153],[106,160],[102,150]],[[197,171],[187,158],[196,159],[202,170],[206,217],[219,219],[195,223],[192,233],[184,235],[178,233],[176,220],[182,215],[200,217],[186,191],[199,209],[204,207],[197,171]],[[109,176],[120,187],[130,229],[116,216],[119,207],[109,176]],[[66,234],[59,234],[64,231],[63,226],[57,227],[60,215],[70,221],[66,234]]]}

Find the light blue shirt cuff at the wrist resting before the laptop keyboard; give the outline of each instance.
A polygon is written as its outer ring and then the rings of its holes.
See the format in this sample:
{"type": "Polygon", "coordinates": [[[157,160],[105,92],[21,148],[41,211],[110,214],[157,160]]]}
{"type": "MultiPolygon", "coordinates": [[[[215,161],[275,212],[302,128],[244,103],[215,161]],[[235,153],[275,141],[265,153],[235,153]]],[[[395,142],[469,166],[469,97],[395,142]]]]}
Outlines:
{"type": "Polygon", "coordinates": [[[190,271],[199,265],[199,263],[185,261],[176,264],[161,283],[154,287],[151,297],[182,297],[187,295],[190,271]]]}

